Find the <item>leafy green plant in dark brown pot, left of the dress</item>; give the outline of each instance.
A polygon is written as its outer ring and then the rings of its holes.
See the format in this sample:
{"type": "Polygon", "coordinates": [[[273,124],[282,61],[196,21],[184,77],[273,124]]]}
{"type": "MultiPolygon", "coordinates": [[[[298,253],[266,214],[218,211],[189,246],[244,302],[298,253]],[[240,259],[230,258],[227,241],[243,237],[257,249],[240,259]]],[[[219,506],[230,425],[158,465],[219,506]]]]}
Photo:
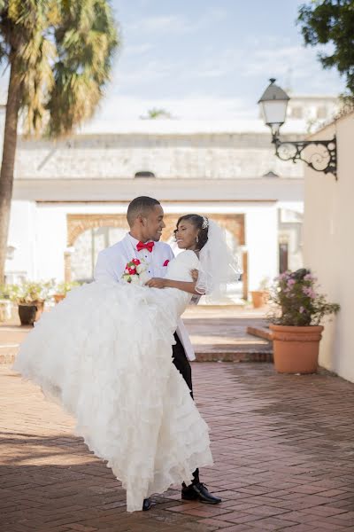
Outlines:
{"type": "Polygon", "coordinates": [[[42,314],[44,303],[50,298],[53,281],[24,281],[13,287],[12,301],[19,305],[21,325],[34,325],[42,314]]]}

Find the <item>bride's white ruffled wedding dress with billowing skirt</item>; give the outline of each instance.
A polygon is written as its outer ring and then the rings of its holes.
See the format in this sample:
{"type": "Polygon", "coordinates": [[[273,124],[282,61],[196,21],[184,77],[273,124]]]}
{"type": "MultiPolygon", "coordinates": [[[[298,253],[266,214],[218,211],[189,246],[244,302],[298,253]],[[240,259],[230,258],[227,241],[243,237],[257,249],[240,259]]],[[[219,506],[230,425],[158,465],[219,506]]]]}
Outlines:
{"type": "MultiPolygon", "coordinates": [[[[190,281],[186,251],[166,278],[190,281]]],[[[191,294],[94,282],[44,313],[13,366],[76,418],[76,434],[127,490],[127,511],[212,465],[208,426],[172,363],[173,332],[191,294]]]]}

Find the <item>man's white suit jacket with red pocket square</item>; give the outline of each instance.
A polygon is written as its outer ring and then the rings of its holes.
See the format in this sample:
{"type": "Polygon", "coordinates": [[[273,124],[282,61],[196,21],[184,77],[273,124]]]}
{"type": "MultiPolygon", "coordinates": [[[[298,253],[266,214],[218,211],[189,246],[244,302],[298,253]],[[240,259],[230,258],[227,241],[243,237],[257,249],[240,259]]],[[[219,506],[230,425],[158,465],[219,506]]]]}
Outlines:
{"type": "MultiPolygon", "coordinates": [[[[124,239],[117,242],[117,244],[106,247],[106,249],[101,251],[97,257],[95,280],[121,282],[121,276],[126,268],[127,262],[134,258],[143,258],[147,262],[150,277],[164,278],[166,271],[165,262],[171,261],[174,258],[171,247],[165,244],[165,242],[155,242],[151,253],[147,250],[138,252],[136,250],[137,243],[138,240],[135,240],[127,233],[124,239]]],[[[189,340],[189,333],[181,319],[178,321],[176,332],[189,360],[195,360],[196,356],[189,340]]]]}

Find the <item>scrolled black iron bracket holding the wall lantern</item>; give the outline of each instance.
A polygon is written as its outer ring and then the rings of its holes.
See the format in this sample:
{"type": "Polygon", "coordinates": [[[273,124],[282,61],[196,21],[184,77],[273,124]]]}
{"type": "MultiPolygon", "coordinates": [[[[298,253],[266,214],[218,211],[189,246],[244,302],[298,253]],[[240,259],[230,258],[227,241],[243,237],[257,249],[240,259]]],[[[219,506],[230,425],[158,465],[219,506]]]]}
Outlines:
{"type": "Polygon", "coordinates": [[[273,133],[275,155],[281,160],[303,160],[309,167],[318,172],[333,174],[337,179],[337,143],[332,140],[298,140],[281,142],[273,133]],[[314,148],[314,149],[312,149],[314,148]]]}

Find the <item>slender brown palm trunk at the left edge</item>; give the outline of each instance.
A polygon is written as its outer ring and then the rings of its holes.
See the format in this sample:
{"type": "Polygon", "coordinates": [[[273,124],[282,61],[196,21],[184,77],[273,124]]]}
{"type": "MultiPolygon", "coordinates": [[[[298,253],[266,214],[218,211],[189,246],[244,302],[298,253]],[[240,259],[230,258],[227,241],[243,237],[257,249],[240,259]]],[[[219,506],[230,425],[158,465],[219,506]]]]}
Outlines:
{"type": "Polygon", "coordinates": [[[10,72],[4,127],[3,161],[0,172],[0,284],[4,283],[4,268],[12,202],[13,169],[17,143],[17,124],[19,121],[20,86],[14,61],[15,59],[12,61],[10,72]]]}

